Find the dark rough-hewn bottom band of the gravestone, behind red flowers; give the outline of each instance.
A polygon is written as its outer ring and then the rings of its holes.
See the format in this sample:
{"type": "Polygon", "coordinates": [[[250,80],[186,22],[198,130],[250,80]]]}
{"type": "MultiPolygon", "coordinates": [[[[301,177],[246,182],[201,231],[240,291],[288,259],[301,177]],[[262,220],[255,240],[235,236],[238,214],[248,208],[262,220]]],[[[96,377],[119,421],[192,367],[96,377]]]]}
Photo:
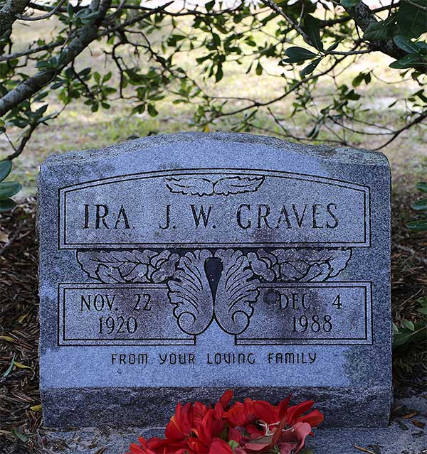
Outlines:
{"type": "MultiPolygon", "coordinates": [[[[225,388],[59,388],[41,389],[48,427],[163,426],[177,402],[213,403],[225,388]]],[[[246,397],[278,402],[292,394],[293,402],[313,399],[325,414],[325,427],[386,427],[391,389],[366,388],[236,388],[235,399],[246,397]]]]}

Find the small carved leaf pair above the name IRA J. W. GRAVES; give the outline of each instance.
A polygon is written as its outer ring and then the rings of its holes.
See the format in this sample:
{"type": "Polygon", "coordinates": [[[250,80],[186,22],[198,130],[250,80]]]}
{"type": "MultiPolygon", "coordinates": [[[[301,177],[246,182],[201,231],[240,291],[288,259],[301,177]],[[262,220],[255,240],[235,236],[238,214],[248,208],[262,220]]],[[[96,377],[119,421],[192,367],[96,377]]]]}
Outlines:
{"type": "Polygon", "coordinates": [[[232,176],[219,180],[186,177],[166,178],[166,185],[172,193],[184,195],[230,195],[255,192],[263,184],[263,181],[263,176],[232,176]]]}

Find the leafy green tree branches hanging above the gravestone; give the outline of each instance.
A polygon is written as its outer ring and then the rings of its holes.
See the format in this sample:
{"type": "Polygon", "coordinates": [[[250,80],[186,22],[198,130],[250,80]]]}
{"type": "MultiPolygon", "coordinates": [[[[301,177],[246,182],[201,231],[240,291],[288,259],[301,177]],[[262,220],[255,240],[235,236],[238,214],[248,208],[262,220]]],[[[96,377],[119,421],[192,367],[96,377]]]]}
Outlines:
{"type": "Polygon", "coordinates": [[[317,140],[320,131],[327,131],[327,139],[340,144],[349,142],[352,131],[382,136],[387,144],[426,120],[426,0],[391,1],[375,9],[361,0],[149,4],[139,0],[0,1],[0,117],[5,123],[1,132],[9,139],[9,128],[22,130],[18,140],[9,140],[9,159],[21,154],[39,124],[48,124],[60,114],[48,109],[52,94],[64,108],[83,99],[93,112],[127,99],[134,112],[151,116],[157,114],[157,102],[172,95],[177,104],[194,105],[194,119],[201,126],[229,117],[238,131],[268,131],[257,123],[263,113],[274,120],[276,135],[317,140]],[[17,24],[31,28],[39,21],[45,21],[46,27],[54,21],[54,32],[16,48],[17,24]],[[105,58],[114,63],[116,74],[80,64],[81,55],[96,40],[102,41],[105,58]],[[366,119],[359,88],[378,77],[372,70],[360,70],[352,86],[335,79],[337,71],[357,65],[370,53],[389,55],[396,79],[412,78],[418,84],[407,99],[396,97],[394,103],[404,105],[402,124],[396,128],[366,119]],[[183,54],[186,67],[179,65],[178,56],[183,54]],[[230,65],[263,75],[268,60],[283,70],[277,75],[283,90],[268,101],[216,97],[188,70],[199,67],[205,80],[218,82],[230,65]],[[319,100],[315,87],[327,77],[336,85],[319,100]],[[306,134],[284,126],[283,115],[275,112],[275,102],[285,97],[293,101],[288,117],[299,112],[310,117],[312,127],[306,134]]]}

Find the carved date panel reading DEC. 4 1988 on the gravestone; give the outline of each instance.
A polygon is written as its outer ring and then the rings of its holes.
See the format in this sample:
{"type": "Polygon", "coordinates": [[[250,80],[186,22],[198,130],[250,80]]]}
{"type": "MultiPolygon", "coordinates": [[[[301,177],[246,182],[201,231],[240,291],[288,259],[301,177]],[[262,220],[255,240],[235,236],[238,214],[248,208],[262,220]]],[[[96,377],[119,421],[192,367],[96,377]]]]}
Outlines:
{"type": "Polygon", "coordinates": [[[371,344],[371,284],[273,283],[258,287],[238,345],[371,344]]]}

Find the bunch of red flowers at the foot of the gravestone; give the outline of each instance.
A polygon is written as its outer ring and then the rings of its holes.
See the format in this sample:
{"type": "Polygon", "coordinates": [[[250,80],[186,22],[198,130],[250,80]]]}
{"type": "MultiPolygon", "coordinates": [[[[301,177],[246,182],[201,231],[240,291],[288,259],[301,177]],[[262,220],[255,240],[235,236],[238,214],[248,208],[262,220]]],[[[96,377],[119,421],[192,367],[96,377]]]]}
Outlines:
{"type": "Polygon", "coordinates": [[[228,408],[232,398],[226,391],[214,408],[178,404],[165,438],[141,437],[127,454],[296,454],[323,421],[318,410],[305,414],[313,401],[289,407],[290,397],[276,406],[245,399],[228,408]]]}

